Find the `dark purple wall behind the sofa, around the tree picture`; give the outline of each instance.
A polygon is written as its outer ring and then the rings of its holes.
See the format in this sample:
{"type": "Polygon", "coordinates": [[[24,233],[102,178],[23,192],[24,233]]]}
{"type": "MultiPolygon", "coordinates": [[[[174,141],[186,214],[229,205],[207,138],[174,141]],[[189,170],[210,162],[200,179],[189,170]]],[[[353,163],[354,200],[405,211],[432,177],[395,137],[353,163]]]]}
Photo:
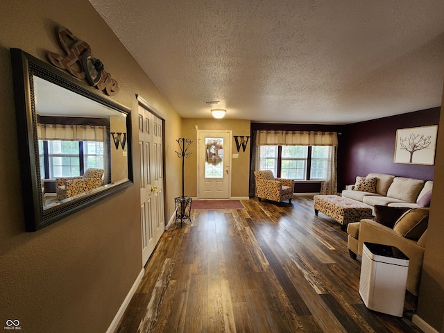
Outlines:
{"type": "Polygon", "coordinates": [[[441,108],[352,123],[344,126],[338,154],[338,191],[354,184],[356,176],[388,173],[433,180],[434,166],[394,163],[396,130],[438,125],[441,108]]]}

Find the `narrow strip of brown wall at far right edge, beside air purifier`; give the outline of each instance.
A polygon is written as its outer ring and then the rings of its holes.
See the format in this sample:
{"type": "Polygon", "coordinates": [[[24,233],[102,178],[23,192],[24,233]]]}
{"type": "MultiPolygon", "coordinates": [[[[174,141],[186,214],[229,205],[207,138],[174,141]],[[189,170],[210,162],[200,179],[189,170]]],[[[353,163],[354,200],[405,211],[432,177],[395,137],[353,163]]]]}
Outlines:
{"type": "Polygon", "coordinates": [[[444,332],[444,92],[436,144],[435,174],[427,244],[418,298],[418,316],[444,332]]]}

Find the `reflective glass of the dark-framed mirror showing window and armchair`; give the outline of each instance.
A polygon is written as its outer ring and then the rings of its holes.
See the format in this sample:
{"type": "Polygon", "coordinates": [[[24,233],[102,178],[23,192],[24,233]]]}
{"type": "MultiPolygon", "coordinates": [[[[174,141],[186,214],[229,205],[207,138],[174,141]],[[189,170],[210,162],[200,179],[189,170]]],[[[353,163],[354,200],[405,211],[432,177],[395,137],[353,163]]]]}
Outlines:
{"type": "Polygon", "coordinates": [[[33,83],[44,210],[128,180],[126,114],[38,76],[33,83]]]}

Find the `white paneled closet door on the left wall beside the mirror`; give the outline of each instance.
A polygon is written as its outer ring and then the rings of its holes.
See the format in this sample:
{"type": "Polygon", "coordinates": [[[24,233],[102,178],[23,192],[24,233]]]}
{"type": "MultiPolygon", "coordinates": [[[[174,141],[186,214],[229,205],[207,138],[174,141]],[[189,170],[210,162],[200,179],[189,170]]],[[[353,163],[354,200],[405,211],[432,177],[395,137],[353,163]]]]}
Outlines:
{"type": "Polygon", "coordinates": [[[140,223],[142,265],[164,232],[162,119],[139,105],[140,223]]]}

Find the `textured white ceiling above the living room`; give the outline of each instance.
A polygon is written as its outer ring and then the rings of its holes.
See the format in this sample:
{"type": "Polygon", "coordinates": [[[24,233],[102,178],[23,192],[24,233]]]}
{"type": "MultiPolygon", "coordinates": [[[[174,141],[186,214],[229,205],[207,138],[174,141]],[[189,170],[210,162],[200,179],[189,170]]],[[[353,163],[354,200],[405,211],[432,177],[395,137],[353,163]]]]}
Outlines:
{"type": "Polygon", "coordinates": [[[89,1],[184,118],[354,123],[441,105],[443,0],[89,1]]]}

